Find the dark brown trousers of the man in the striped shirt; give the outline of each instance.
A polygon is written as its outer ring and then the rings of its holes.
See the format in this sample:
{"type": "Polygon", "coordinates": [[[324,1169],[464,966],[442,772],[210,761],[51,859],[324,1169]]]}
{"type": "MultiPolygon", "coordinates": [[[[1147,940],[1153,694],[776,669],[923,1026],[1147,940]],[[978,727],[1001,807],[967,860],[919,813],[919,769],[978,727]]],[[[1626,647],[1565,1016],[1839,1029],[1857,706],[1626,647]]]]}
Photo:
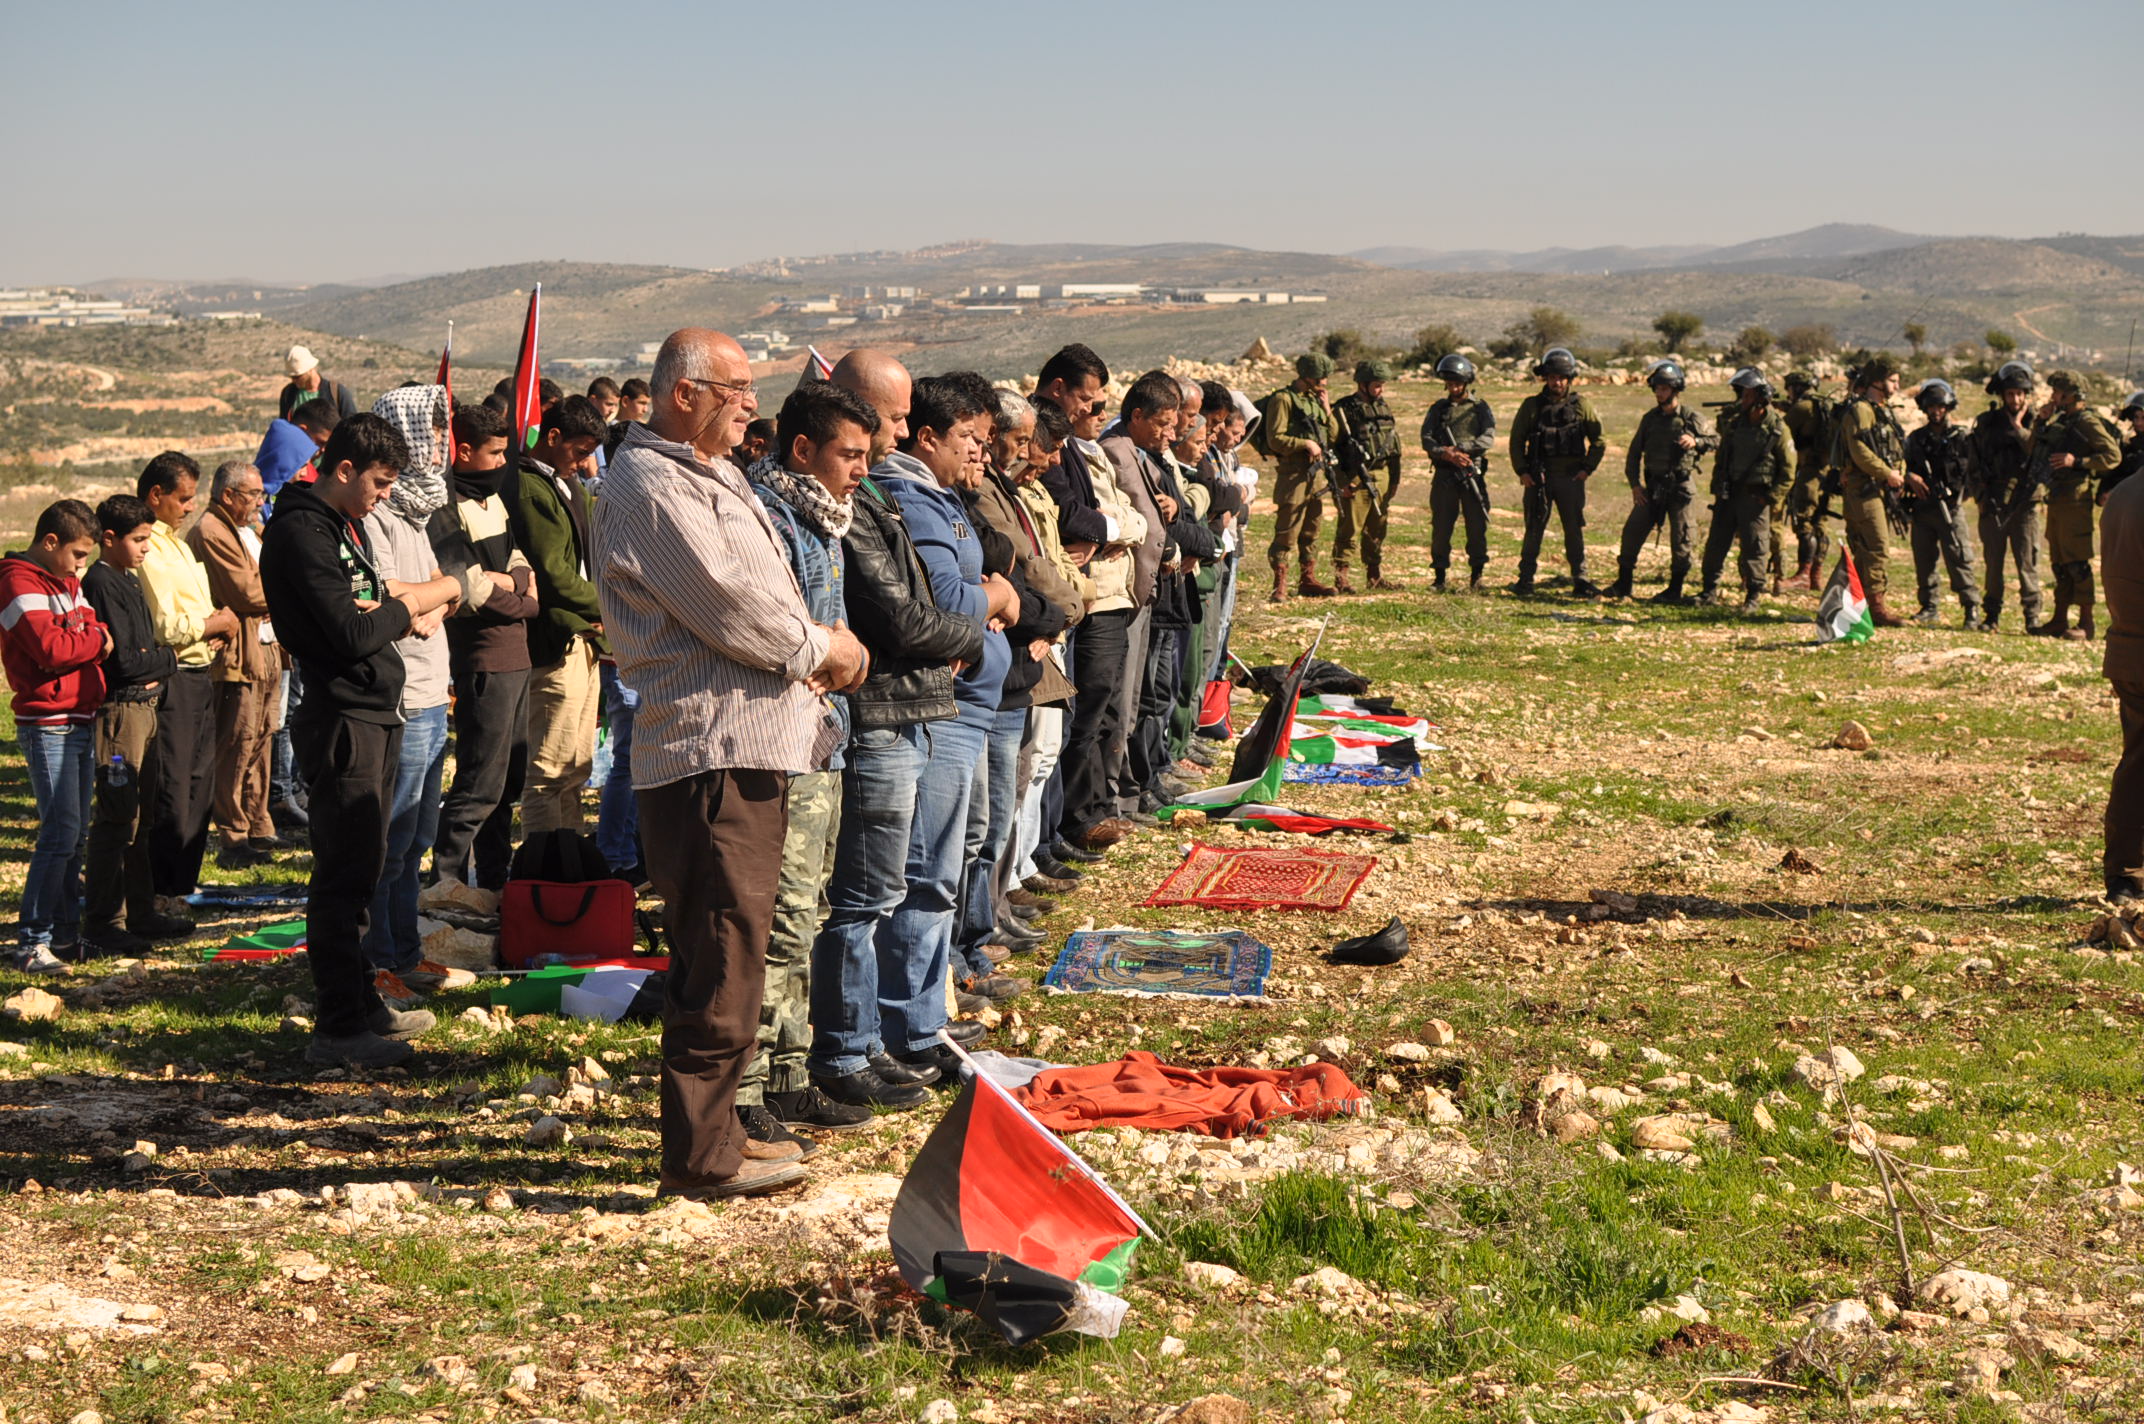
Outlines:
{"type": "Polygon", "coordinates": [[[639,791],[647,879],[662,896],[662,1180],[738,1175],[738,1083],[759,1047],[768,933],[789,832],[789,776],[720,770],[639,791]]]}

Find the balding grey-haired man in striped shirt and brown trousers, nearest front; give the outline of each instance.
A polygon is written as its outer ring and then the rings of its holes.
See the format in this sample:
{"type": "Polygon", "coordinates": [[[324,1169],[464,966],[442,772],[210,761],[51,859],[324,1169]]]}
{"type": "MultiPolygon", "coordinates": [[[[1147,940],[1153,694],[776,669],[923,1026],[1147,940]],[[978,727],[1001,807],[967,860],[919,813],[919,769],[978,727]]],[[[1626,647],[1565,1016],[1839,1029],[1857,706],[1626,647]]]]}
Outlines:
{"type": "Polygon", "coordinates": [[[611,457],[592,573],[617,673],[639,691],[632,789],[671,941],[662,1004],[662,1190],[748,1197],[802,1182],[802,1149],[757,1143],[738,1083],[759,1040],[789,778],[825,763],[825,693],[868,656],[813,620],[765,506],[731,463],[759,414],[744,350],[671,332],[654,410],[611,457]]]}

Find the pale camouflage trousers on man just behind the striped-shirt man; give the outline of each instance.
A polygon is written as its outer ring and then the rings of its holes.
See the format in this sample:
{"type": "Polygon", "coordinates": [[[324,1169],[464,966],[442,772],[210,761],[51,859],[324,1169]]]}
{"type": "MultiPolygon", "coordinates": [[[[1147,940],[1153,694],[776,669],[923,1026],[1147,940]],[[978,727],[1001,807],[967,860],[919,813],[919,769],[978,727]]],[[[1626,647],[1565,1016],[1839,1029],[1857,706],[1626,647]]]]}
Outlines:
{"type": "Polygon", "coordinates": [[[768,933],[768,989],[759,999],[759,1053],[744,1066],[738,1102],[810,1087],[810,941],[825,918],[825,879],[834,871],[840,832],[840,772],[789,778],[789,834],[774,886],[774,929],[768,933]]]}

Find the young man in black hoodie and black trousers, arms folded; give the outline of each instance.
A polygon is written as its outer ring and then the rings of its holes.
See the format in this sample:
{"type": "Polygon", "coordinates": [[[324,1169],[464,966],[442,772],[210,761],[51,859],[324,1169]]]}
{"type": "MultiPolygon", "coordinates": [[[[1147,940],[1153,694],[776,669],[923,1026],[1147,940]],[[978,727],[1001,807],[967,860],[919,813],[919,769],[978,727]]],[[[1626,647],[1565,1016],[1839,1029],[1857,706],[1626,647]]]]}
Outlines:
{"type": "Polygon", "coordinates": [[[379,575],[362,519],[410,448],[392,425],[356,414],[319,453],[319,480],[285,489],[262,547],[262,585],[277,639],[298,658],[304,701],[292,727],[311,785],[313,884],[304,914],[313,969],[307,1062],[388,1068],[433,1017],[379,1002],[364,963],[373,888],[388,854],[401,757],[403,663],[394,641],[437,633],[461,594],[450,577],[397,583],[379,575]]]}

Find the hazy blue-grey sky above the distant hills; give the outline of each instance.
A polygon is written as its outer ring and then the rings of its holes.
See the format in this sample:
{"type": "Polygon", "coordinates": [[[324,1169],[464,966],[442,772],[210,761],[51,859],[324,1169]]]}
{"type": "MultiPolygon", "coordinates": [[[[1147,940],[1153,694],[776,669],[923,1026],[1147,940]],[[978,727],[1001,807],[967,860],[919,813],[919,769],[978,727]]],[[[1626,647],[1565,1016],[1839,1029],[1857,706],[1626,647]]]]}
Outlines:
{"type": "Polygon", "coordinates": [[[2144,229],[2135,0],[120,0],[6,28],[0,281],[2144,229]]]}

